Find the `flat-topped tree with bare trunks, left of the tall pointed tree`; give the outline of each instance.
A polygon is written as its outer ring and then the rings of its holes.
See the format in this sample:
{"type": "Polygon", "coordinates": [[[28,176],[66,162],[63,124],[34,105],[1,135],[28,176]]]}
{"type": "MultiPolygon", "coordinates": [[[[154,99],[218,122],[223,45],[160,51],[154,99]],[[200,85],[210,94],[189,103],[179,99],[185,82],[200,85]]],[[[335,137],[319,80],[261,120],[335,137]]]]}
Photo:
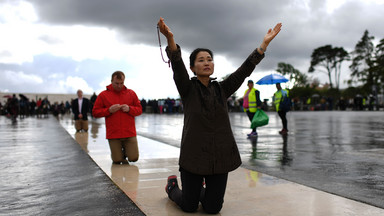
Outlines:
{"type": "Polygon", "coordinates": [[[339,89],[341,65],[343,61],[349,60],[348,52],[342,47],[333,48],[331,45],[325,45],[315,49],[311,58],[308,72],[315,72],[317,66],[325,68],[325,71],[320,70],[320,72],[327,74],[331,88],[333,88],[332,73],[334,73],[336,88],[339,89]]]}

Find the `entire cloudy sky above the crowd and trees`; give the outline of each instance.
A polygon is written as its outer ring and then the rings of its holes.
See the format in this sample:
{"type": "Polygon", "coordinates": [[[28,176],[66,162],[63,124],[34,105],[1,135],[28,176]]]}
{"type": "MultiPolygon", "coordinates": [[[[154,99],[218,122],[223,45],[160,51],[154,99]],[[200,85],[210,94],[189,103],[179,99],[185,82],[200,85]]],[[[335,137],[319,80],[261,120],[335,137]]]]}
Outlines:
{"type": "MultiPolygon", "coordinates": [[[[98,94],[112,72],[121,70],[140,99],[176,98],[172,71],[158,46],[160,16],[186,65],[194,48],[213,50],[219,79],[240,66],[268,28],[282,22],[250,79],[273,73],[279,62],[306,73],[320,46],[351,51],[365,30],[375,41],[384,38],[383,11],[384,0],[0,0],[0,92],[73,94],[80,88],[98,94]]],[[[342,70],[343,81],[348,65],[342,70]]],[[[310,76],[327,81],[322,74],[310,76]]],[[[262,99],[275,91],[256,88],[262,99]]],[[[237,95],[245,89],[246,83],[237,95]]]]}

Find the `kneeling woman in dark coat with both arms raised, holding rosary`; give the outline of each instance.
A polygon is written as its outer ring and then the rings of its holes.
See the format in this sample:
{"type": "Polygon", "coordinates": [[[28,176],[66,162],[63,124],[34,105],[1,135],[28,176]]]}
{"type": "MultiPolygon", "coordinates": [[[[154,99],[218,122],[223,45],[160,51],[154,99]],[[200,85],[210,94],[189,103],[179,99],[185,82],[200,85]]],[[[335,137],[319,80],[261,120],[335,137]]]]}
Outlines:
{"type": "Polygon", "coordinates": [[[163,18],[160,18],[158,27],[168,41],[166,51],[184,108],[179,158],[183,188],[180,190],[177,176],[171,175],[165,191],[185,212],[196,211],[201,202],[205,212],[216,214],[224,203],[228,173],[241,165],[229,121],[227,99],[264,58],[264,52],[280,32],[281,24],[270,29],[260,47],[221,82],[210,77],[214,71],[213,53],[205,48],[195,49],[189,57],[190,69],[196,75],[190,79],[180,46],[175,43],[163,18]]]}

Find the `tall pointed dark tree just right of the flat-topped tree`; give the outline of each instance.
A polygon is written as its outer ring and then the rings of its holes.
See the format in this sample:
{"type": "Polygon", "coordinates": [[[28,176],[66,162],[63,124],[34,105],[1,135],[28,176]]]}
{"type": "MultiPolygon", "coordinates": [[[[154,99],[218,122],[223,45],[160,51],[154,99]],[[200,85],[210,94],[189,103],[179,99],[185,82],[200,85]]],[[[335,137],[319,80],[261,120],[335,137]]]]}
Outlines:
{"type": "Polygon", "coordinates": [[[365,87],[371,87],[377,83],[377,75],[374,73],[374,45],[375,37],[369,36],[368,30],[365,30],[363,37],[356,44],[355,50],[351,52],[352,64],[351,79],[348,83],[362,82],[365,87]]]}

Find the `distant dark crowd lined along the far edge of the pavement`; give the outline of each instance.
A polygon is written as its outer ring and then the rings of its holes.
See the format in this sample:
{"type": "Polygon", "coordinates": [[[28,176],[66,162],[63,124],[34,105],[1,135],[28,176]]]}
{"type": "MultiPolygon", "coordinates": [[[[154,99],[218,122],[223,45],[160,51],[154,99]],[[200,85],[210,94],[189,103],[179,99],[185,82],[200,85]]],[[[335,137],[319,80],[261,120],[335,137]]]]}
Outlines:
{"type": "MultiPolygon", "coordinates": [[[[90,112],[92,104],[96,101],[97,95],[94,93],[91,100],[90,112]]],[[[183,113],[183,104],[180,98],[164,98],[164,99],[141,99],[143,113],[155,114],[176,114],[183,113]]],[[[243,97],[229,97],[227,100],[228,112],[243,112],[243,97]]],[[[260,108],[264,111],[274,110],[273,104],[268,104],[268,99],[264,99],[260,108]]],[[[371,111],[376,110],[375,99],[373,96],[360,96],[354,98],[339,98],[335,100],[333,97],[307,97],[293,98],[293,111],[321,111],[321,110],[354,110],[354,111],[371,111]]],[[[0,114],[11,118],[24,118],[27,116],[36,116],[38,118],[48,117],[48,114],[58,116],[59,114],[70,114],[72,109],[71,101],[61,101],[51,103],[48,98],[39,98],[37,101],[30,100],[25,96],[17,97],[15,94],[8,97],[3,103],[0,102],[0,114]]]]}

